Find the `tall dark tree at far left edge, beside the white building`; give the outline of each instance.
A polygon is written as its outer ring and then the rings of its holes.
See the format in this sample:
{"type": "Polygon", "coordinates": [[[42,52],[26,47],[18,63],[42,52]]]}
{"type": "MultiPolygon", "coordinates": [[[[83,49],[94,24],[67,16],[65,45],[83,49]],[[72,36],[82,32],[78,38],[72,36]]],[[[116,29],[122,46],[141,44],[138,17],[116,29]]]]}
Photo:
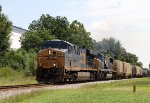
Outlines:
{"type": "Polygon", "coordinates": [[[2,13],[2,8],[0,6],[0,57],[3,56],[10,47],[11,27],[11,21],[2,13]]]}

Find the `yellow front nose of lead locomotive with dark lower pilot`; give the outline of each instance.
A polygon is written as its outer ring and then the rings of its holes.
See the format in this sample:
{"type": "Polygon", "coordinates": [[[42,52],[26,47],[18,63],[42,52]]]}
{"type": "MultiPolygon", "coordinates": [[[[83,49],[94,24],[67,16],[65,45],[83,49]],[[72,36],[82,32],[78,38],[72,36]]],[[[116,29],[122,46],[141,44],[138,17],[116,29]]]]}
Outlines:
{"type": "MultiPolygon", "coordinates": [[[[64,52],[56,49],[47,49],[38,53],[38,82],[53,82],[60,78],[64,68],[64,52]]],[[[61,77],[63,78],[63,77],[61,77]]]]}

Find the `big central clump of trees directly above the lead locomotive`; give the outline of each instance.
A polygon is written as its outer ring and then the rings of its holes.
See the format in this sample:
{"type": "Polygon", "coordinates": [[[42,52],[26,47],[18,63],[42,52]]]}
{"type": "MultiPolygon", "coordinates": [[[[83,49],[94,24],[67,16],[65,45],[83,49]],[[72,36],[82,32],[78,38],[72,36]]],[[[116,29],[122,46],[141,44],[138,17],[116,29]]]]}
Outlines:
{"type": "Polygon", "coordinates": [[[82,48],[93,47],[93,39],[82,23],[75,20],[70,24],[66,17],[52,17],[47,14],[29,25],[29,31],[21,37],[22,48],[37,50],[43,41],[53,38],[68,41],[82,48]]]}

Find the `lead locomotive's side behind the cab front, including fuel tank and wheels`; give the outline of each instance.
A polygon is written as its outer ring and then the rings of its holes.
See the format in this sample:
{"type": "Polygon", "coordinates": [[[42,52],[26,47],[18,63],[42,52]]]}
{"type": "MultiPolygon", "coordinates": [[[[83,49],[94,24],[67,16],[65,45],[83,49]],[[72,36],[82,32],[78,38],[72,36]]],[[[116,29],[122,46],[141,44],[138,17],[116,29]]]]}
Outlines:
{"type": "Polygon", "coordinates": [[[100,70],[100,60],[88,54],[86,49],[65,53],[65,78],[67,80],[94,80],[100,70]]]}

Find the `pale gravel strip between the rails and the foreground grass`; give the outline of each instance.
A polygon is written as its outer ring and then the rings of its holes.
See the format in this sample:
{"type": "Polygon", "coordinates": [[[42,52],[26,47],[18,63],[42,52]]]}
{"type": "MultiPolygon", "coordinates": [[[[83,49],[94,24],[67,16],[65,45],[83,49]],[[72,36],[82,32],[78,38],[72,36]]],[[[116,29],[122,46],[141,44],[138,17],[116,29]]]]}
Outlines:
{"type": "Polygon", "coordinates": [[[0,99],[9,98],[10,96],[19,95],[22,93],[31,93],[36,90],[48,89],[48,90],[56,90],[56,89],[69,89],[69,88],[80,88],[85,85],[90,84],[102,84],[102,83],[112,83],[121,80],[108,80],[108,81],[96,81],[96,82],[86,82],[86,83],[79,83],[79,84],[65,84],[65,85],[50,85],[42,88],[19,88],[19,89],[11,89],[7,91],[0,91],[0,99]]]}

